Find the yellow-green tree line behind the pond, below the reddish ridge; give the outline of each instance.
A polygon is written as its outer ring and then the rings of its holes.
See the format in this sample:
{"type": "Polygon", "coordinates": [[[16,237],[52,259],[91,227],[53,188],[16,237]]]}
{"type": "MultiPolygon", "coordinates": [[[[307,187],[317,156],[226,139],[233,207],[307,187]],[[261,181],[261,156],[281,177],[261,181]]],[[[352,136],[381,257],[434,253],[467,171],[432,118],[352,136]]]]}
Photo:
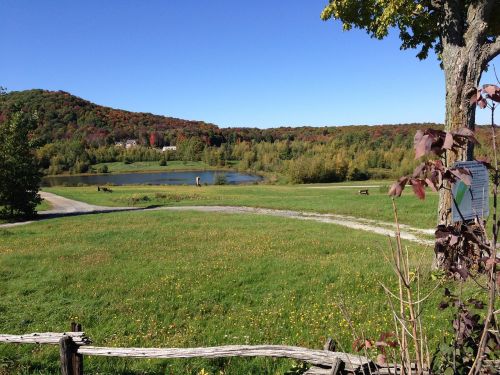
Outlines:
{"type": "MultiPolygon", "coordinates": [[[[229,164],[241,171],[275,173],[293,183],[339,182],[393,178],[410,173],[418,161],[411,152],[413,137],[378,127],[351,127],[329,140],[237,141],[212,146],[197,137],[177,143],[176,151],[139,145],[93,147],[83,141],[56,141],[36,151],[46,174],[86,173],[98,163],[168,160],[203,161],[210,166],[229,164]],[[357,130],[357,131],[355,131],[357,130]],[[378,136],[375,136],[379,132],[378,136]]],[[[483,129],[479,129],[479,135],[483,129]]],[[[481,138],[481,137],[479,137],[481,138]]],[[[478,155],[488,149],[479,146],[478,155]]]]}

